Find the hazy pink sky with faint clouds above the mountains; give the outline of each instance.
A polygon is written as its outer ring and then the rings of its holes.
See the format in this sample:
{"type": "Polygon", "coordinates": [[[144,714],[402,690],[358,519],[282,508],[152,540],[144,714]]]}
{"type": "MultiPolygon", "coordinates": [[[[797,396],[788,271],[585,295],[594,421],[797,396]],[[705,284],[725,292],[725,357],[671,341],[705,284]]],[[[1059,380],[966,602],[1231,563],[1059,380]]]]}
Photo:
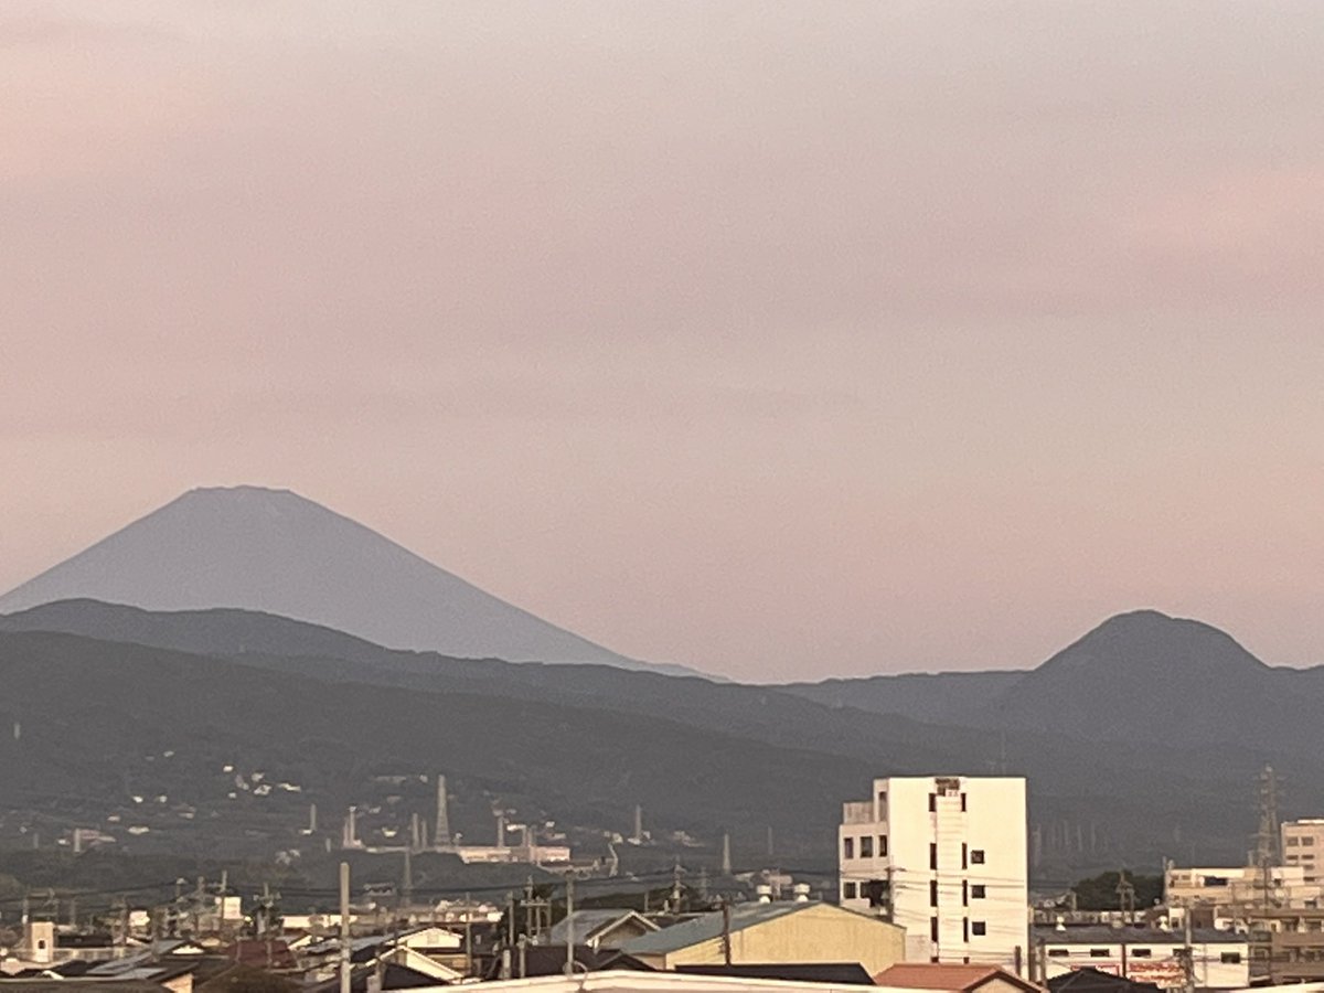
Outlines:
{"type": "Polygon", "coordinates": [[[1324,7],[0,7],[0,589],[287,486],[618,651],[1324,662],[1324,7]]]}

